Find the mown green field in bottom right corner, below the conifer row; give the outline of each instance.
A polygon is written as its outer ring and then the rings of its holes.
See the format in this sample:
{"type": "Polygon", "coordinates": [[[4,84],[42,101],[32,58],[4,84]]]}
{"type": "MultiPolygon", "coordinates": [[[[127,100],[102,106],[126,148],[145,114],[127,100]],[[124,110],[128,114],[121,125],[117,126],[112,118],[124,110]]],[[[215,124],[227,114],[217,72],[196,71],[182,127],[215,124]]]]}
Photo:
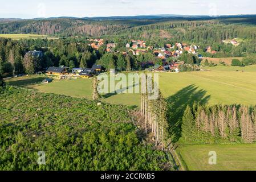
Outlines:
{"type": "Polygon", "coordinates": [[[190,171],[255,171],[256,144],[181,146],[177,153],[190,171]],[[217,165],[210,165],[210,151],[217,153],[217,165]]]}

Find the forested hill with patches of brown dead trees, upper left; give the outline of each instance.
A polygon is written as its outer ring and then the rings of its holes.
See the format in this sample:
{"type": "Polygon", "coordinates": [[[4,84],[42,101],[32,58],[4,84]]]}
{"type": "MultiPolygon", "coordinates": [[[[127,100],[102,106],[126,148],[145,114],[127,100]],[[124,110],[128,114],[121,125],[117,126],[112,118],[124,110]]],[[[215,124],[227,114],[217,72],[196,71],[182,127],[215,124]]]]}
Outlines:
{"type": "Polygon", "coordinates": [[[19,20],[0,24],[0,34],[101,36],[128,28],[128,24],[92,22],[79,19],[19,20]]]}

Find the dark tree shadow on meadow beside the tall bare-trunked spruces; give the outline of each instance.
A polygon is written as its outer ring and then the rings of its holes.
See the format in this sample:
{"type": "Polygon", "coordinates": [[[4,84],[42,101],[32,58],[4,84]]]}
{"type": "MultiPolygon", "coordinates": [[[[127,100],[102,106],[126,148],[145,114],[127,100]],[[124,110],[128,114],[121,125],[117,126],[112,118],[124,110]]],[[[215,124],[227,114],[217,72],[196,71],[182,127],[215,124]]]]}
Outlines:
{"type": "Polygon", "coordinates": [[[210,96],[205,96],[206,90],[197,89],[196,85],[189,85],[167,98],[168,123],[173,143],[178,142],[181,138],[181,119],[186,107],[193,106],[194,103],[205,105],[210,99],[210,96]]]}

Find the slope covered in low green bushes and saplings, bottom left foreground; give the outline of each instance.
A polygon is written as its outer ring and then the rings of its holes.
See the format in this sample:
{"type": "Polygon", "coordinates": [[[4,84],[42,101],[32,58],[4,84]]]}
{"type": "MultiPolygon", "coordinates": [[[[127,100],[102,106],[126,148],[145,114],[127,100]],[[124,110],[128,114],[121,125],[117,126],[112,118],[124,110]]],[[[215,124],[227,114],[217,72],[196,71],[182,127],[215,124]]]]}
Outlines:
{"type": "Polygon", "coordinates": [[[0,170],[173,169],[137,137],[128,107],[21,88],[0,102],[0,170]],[[38,165],[39,151],[46,165],[38,165]]]}

